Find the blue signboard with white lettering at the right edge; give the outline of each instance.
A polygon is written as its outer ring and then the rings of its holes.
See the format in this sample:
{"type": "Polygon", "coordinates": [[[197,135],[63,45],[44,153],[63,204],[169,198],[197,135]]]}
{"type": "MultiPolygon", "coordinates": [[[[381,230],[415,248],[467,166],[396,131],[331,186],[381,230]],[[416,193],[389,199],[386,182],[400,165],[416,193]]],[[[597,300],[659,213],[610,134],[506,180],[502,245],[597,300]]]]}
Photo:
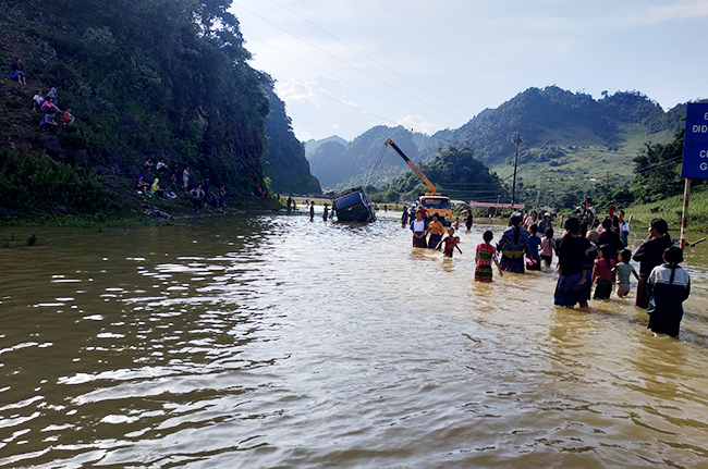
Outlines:
{"type": "Polygon", "coordinates": [[[688,103],[681,177],[708,178],[708,103],[688,103]]]}

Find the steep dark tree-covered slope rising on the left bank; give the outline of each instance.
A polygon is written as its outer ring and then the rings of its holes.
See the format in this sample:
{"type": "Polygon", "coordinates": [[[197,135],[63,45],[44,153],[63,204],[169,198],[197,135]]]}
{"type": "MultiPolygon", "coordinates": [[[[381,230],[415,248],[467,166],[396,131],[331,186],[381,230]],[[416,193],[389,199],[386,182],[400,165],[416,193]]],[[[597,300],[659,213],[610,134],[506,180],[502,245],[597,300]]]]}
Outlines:
{"type": "MultiPolygon", "coordinates": [[[[139,173],[146,172],[148,182],[159,175],[144,168],[147,158],[162,159],[170,168],[176,164],[180,173],[188,166],[192,185],[210,177],[212,187],[225,185],[239,203],[259,202],[254,193],[266,189],[269,147],[278,151],[274,161],[303,160],[294,171],[306,180],[306,161],[288,132],[281,102],[274,103],[274,113],[283,115],[271,119],[276,135],[268,145],[272,83],[248,64],[251,54],[236,17],[227,12],[229,4],[1,1],[0,61],[9,70],[15,57],[22,58],[28,78],[27,87],[8,79],[0,85],[2,162],[25,155],[46,157],[50,171],[66,163],[109,190],[102,207],[108,210],[136,202],[130,189],[139,173]],[[30,111],[29,103],[35,91],[50,87],[58,90],[59,108],[71,108],[76,121],[40,132],[41,114],[30,111]],[[284,128],[278,120],[284,121],[284,128]]],[[[5,209],[13,208],[13,187],[29,185],[30,178],[28,171],[0,184],[5,209]]],[[[166,178],[161,183],[180,198],[187,197],[176,184],[166,178]]],[[[46,198],[41,188],[32,196],[46,198]]],[[[96,208],[78,202],[69,207],[85,210],[96,208]]]]}

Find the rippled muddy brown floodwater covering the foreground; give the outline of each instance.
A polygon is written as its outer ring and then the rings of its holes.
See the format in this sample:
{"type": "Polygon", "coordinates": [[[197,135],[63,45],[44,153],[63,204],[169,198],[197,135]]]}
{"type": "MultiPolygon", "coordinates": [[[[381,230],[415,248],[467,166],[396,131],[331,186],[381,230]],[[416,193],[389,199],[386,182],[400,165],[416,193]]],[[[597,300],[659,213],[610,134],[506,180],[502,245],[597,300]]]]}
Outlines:
{"type": "Polygon", "coordinates": [[[708,467],[708,243],[674,340],[552,273],[475,284],[489,226],[443,259],[393,217],[15,229],[0,467],[708,467]]]}

